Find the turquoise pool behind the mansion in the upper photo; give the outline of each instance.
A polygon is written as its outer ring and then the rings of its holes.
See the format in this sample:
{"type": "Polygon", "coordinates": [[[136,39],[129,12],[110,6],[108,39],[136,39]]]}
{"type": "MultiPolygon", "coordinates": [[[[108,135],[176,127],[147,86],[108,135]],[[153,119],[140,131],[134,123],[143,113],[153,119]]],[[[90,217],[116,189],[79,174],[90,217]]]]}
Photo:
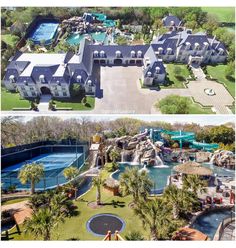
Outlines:
{"type": "Polygon", "coordinates": [[[94,39],[96,42],[103,42],[104,45],[107,45],[108,43],[107,34],[105,32],[95,32],[90,34],[71,34],[66,39],[66,42],[70,45],[78,45],[86,37],[92,37],[92,39],[94,39]]]}

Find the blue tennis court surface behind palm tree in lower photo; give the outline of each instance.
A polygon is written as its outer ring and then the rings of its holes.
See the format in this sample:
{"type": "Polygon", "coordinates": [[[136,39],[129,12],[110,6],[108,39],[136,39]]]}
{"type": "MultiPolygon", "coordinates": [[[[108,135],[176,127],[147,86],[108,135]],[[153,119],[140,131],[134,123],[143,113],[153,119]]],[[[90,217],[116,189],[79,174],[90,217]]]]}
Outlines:
{"type": "Polygon", "coordinates": [[[36,190],[45,190],[56,187],[58,184],[66,182],[63,170],[71,165],[80,168],[84,163],[82,153],[47,153],[31,160],[24,161],[2,170],[2,188],[7,189],[10,185],[15,185],[18,190],[30,188],[30,184],[22,185],[17,178],[19,170],[27,163],[42,163],[44,165],[44,178],[36,184],[36,190]]]}

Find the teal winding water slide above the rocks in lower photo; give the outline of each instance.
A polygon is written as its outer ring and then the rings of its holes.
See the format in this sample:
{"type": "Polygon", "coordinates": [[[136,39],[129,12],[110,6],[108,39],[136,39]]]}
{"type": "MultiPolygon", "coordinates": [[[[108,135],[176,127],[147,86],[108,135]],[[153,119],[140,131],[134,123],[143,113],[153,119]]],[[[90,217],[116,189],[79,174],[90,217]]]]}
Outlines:
{"type": "Polygon", "coordinates": [[[189,142],[192,145],[192,148],[203,149],[206,151],[212,151],[219,148],[219,145],[215,143],[209,144],[204,142],[197,142],[195,140],[195,133],[193,132],[163,130],[163,133],[171,135],[172,140],[179,141],[180,148],[182,148],[183,142],[189,142]]]}

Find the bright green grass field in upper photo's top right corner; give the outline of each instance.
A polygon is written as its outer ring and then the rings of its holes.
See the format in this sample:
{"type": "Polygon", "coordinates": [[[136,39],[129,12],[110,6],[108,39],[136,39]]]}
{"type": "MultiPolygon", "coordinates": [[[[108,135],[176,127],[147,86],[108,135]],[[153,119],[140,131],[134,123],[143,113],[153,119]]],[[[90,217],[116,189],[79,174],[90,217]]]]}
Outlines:
{"type": "Polygon", "coordinates": [[[216,16],[219,22],[234,22],[234,7],[202,7],[202,10],[216,16]]]}

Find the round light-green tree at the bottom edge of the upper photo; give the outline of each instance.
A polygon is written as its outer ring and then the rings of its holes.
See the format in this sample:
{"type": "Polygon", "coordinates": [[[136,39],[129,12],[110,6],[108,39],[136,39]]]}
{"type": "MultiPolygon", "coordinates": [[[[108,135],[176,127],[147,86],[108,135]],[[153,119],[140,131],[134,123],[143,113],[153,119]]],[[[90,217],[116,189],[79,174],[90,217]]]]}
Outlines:
{"type": "Polygon", "coordinates": [[[190,100],[187,97],[169,95],[159,101],[157,107],[163,114],[188,114],[190,100]]]}

